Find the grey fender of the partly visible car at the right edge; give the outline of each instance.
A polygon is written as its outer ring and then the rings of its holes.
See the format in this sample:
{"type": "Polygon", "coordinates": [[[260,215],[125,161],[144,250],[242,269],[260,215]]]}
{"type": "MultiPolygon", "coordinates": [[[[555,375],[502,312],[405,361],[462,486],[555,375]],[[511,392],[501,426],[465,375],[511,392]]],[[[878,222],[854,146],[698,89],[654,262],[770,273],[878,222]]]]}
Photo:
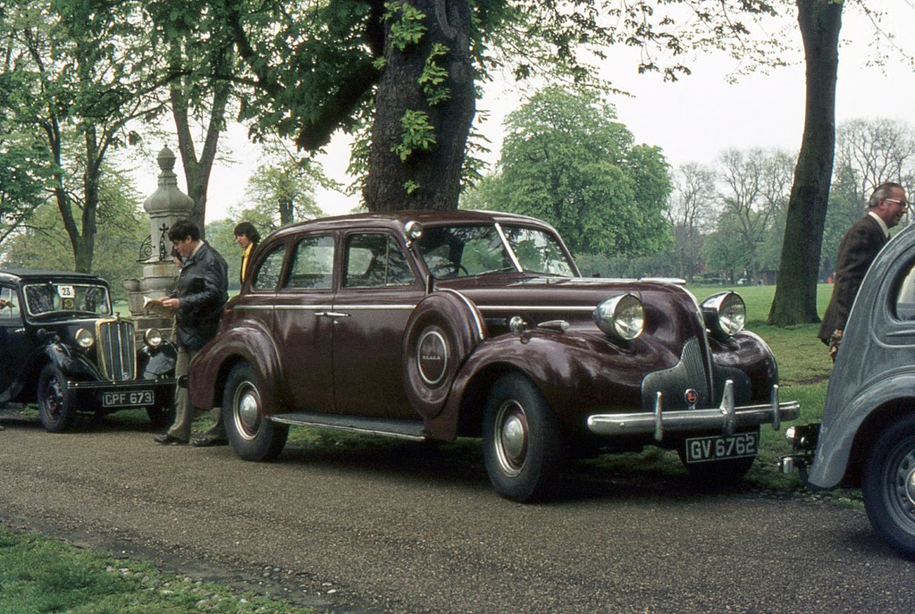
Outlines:
{"type": "MultiPolygon", "coordinates": [[[[831,379],[823,409],[816,454],[808,481],[819,488],[834,488],[845,478],[856,440],[864,435],[862,425],[881,407],[915,398],[915,372],[898,369],[884,372],[848,395],[844,382],[831,379]]],[[[867,427],[866,427],[867,428],[867,427]]]]}

